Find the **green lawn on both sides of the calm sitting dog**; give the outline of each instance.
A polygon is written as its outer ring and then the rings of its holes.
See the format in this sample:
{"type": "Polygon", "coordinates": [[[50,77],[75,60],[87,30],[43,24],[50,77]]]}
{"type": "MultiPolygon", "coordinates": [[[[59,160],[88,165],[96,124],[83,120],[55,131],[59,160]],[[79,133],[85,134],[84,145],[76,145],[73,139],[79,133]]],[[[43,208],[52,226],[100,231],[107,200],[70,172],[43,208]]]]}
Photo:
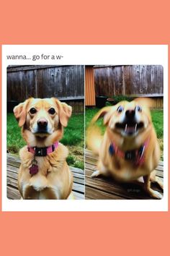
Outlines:
{"type": "MultiPolygon", "coordinates": [[[[72,114],[68,127],[64,129],[61,140],[69,150],[68,165],[84,169],[84,114],[72,114]]],[[[9,153],[18,154],[19,149],[26,143],[21,137],[14,114],[7,114],[7,150],[9,153]]]]}

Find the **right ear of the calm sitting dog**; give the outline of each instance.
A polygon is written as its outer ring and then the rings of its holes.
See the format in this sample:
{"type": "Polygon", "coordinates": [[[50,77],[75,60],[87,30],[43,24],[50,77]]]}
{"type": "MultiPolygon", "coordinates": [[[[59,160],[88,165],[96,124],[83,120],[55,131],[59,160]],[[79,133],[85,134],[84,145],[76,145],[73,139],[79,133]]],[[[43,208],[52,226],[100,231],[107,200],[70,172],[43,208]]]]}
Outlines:
{"type": "Polygon", "coordinates": [[[54,100],[58,106],[59,119],[61,121],[61,124],[63,125],[63,127],[66,127],[68,124],[68,119],[71,117],[72,114],[72,107],[66,103],[61,103],[61,101],[58,101],[58,99],[56,98],[54,98],[54,100]]]}

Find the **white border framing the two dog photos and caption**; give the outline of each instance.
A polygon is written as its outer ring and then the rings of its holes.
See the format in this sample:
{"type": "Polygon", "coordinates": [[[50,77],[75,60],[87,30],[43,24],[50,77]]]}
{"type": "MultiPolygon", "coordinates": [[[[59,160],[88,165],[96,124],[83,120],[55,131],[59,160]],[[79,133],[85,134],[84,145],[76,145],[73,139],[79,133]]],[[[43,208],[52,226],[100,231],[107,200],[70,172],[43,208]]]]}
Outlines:
{"type": "Polygon", "coordinates": [[[168,46],[2,46],[2,210],[3,211],[167,211],[168,210],[168,46]],[[61,54],[59,61],[6,60],[6,55],[61,54]],[[164,197],[162,200],[9,200],[6,197],[6,67],[37,64],[159,64],[164,67],[164,197]]]}

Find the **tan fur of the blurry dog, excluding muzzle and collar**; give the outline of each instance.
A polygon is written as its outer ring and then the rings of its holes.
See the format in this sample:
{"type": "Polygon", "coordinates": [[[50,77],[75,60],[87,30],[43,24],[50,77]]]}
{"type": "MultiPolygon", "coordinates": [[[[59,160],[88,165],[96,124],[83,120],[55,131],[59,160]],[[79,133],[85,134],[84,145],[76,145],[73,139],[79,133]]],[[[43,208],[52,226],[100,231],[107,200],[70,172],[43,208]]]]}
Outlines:
{"type": "Polygon", "coordinates": [[[163,189],[163,184],[155,175],[154,169],[158,166],[160,158],[160,149],[156,137],[155,129],[151,121],[151,114],[148,106],[151,101],[148,99],[136,99],[128,103],[122,101],[116,106],[102,108],[96,116],[91,120],[91,124],[87,130],[87,145],[94,153],[99,155],[98,169],[94,171],[92,177],[99,174],[112,174],[115,179],[120,182],[131,182],[143,176],[145,189],[155,198],[161,198],[161,194],[151,189],[150,181],[157,182],[163,189]],[[135,106],[142,106],[141,113],[138,113],[138,119],[143,121],[145,126],[139,130],[135,137],[124,137],[117,129],[115,124],[122,120],[124,113],[117,113],[117,108],[123,106],[124,110],[135,109],[135,106]],[[95,124],[97,119],[104,116],[104,124],[107,126],[104,136],[102,137],[99,127],[95,124]],[[149,138],[148,147],[144,153],[144,163],[135,166],[132,161],[126,161],[118,155],[109,154],[110,142],[115,142],[117,147],[122,151],[136,150],[149,138]]]}

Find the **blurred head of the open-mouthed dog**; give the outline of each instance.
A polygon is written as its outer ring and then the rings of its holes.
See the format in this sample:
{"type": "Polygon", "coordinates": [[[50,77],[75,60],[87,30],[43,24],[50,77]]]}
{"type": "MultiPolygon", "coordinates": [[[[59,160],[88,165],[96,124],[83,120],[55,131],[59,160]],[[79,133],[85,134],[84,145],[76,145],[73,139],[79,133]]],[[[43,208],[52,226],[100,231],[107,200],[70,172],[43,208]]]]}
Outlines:
{"type": "Polygon", "coordinates": [[[115,106],[102,108],[94,116],[92,122],[104,116],[104,124],[122,137],[135,137],[145,132],[152,125],[151,100],[147,98],[137,98],[134,101],[121,101],[115,106]]]}

